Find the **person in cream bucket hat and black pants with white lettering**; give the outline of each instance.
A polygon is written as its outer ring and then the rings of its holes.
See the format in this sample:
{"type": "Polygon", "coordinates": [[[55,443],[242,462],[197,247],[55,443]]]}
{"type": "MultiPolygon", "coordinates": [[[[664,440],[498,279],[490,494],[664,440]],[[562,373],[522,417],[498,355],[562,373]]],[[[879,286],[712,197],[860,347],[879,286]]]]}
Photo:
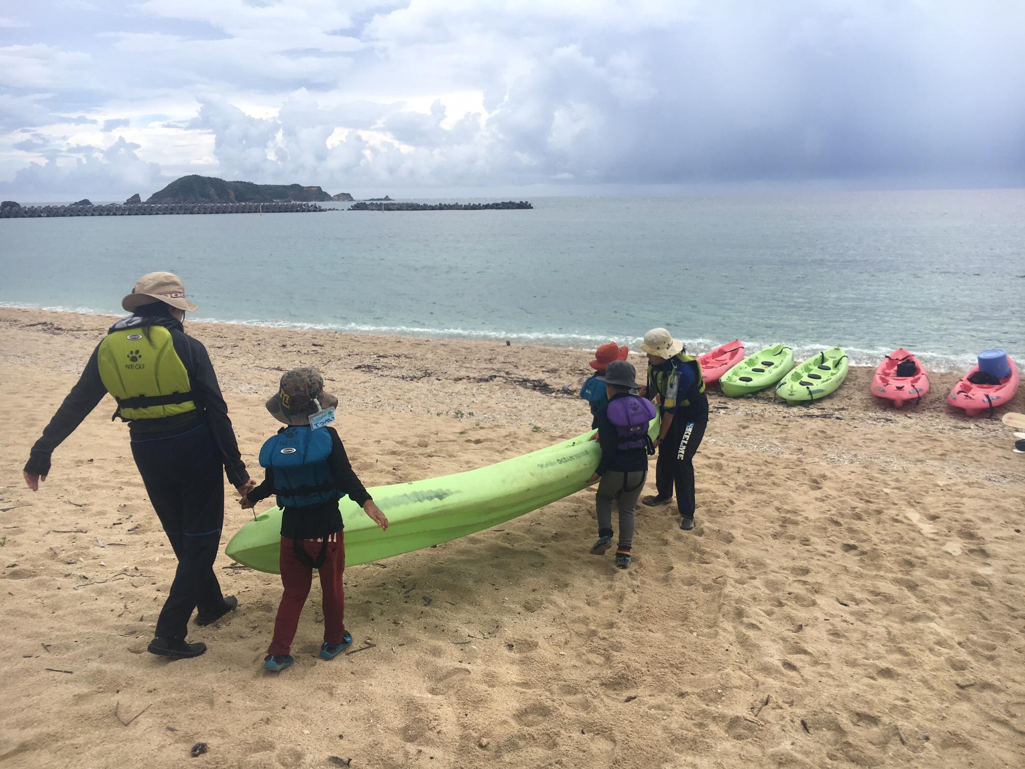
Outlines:
{"type": "Polygon", "coordinates": [[[653,328],[644,335],[641,350],[648,355],[647,395],[659,404],[662,426],[655,446],[654,496],[642,503],[657,508],[672,501],[676,491],[680,528],[694,528],[694,454],[697,453],[708,426],[708,398],[701,379],[701,364],[687,355],[684,342],[672,338],[664,328],[653,328]]]}

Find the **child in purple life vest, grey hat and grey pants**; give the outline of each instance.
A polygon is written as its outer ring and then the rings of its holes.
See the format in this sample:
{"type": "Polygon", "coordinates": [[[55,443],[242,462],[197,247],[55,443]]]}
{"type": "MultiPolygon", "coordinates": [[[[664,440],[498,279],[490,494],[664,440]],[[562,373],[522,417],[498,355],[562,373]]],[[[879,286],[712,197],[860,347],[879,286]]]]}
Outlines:
{"type": "Polygon", "coordinates": [[[615,500],[619,509],[616,567],[625,569],[630,565],[633,545],[633,512],[648,477],[651,451],[648,423],[655,418],[656,412],[651,401],[630,395],[631,390],[641,387],[632,364],[612,361],[605,374],[598,378],[605,383],[609,401],[594,413],[602,458],[589,480],[594,483],[601,479],[594,502],[598,541],[590,552],[601,556],[612,547],[612,502],[615,500]]]}

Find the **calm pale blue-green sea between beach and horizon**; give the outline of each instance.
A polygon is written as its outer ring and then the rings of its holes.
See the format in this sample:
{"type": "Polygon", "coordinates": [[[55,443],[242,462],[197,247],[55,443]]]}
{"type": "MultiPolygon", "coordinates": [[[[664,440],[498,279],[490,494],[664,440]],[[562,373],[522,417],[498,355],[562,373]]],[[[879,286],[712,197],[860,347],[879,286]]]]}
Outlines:
{"type": "MultiPolygon", "coordinates": [[[[465,201],[463,201],[465,202],[465,201]]],[[[798,358],[1025,357],[1025,191],[538,198],[533,211],[0,220],[0,303],[118,313],[180,275],[196,320],[593,348],[666,326],[798,358]]]]}

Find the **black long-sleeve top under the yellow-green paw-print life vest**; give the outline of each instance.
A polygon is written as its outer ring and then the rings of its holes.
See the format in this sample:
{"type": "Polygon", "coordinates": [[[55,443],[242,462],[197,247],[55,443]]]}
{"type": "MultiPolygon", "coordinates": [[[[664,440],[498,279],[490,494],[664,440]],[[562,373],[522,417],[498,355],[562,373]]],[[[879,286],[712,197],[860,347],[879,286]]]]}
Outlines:
{"type": "MultiPolygon", "coordinates": [[[[140,326],[133,326],[133,328],[151,325],[163,326],[171,332],[174,352],[177,353],[189,372],[196,411],[158,419],[133,419],[128,422],[129,433],[132,436],[167,433],[187,428],[203,419],[209,424],[220,450],[228,480],[233,486],[241,486],[249,479],[249,474],[246,472],[246,466],[239,453],[239,444],[235,439],[232,420],[228,416],[228,404],[224,403],[224,398],[220,394],[217,375],[213,371],[213,364],[210,362],[206,348],[203,347],[203,342],[189,336],[181,324],[173,318],[148,316],[140,326]]],[[[92,351],[92,356],[85,364],[85,370],[82,371],[75,387],[72,388],[71,393],[53,414],[50,423],[43,430],[42,437],[32,447],[29,461],[25,466],[26,473],[38,476],[48,475],[50,456],[53,450],[75,432],[75,429],[107,395],[107,388],[104,387],[104,381],[99,377],[98,351],[99,345],[92,351]]]]}

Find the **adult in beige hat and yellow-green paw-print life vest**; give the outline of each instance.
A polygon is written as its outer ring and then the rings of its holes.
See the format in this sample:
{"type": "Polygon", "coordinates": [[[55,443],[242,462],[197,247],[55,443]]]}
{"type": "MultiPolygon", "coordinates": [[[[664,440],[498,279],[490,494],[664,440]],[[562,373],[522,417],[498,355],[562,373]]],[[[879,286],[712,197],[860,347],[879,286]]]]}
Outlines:
{"type": "MultiPolygon", "coordinates": [[[[74,395],[65,399],[36,441],[23,475],[39,490],[54,449],[108,393],[115,416],[128,422],[131,454],[178,566],[157,617],[149,650],[167,657],[206,651],[187,643],[189,620],[215,622],[238,606],[224,596],[213,570],[224,521],[224,474],[240,494],[255,484],[238,441],[206,348],[184,332],[196,309],[177,276],[150,273],[122,301],[131,317],[107,332],[86,364],[74,395]]],[[[40,396],[46,397],[46,396],[40,396]]],[[[126,468],[118,468],[123,476],[126,468]]]]}

